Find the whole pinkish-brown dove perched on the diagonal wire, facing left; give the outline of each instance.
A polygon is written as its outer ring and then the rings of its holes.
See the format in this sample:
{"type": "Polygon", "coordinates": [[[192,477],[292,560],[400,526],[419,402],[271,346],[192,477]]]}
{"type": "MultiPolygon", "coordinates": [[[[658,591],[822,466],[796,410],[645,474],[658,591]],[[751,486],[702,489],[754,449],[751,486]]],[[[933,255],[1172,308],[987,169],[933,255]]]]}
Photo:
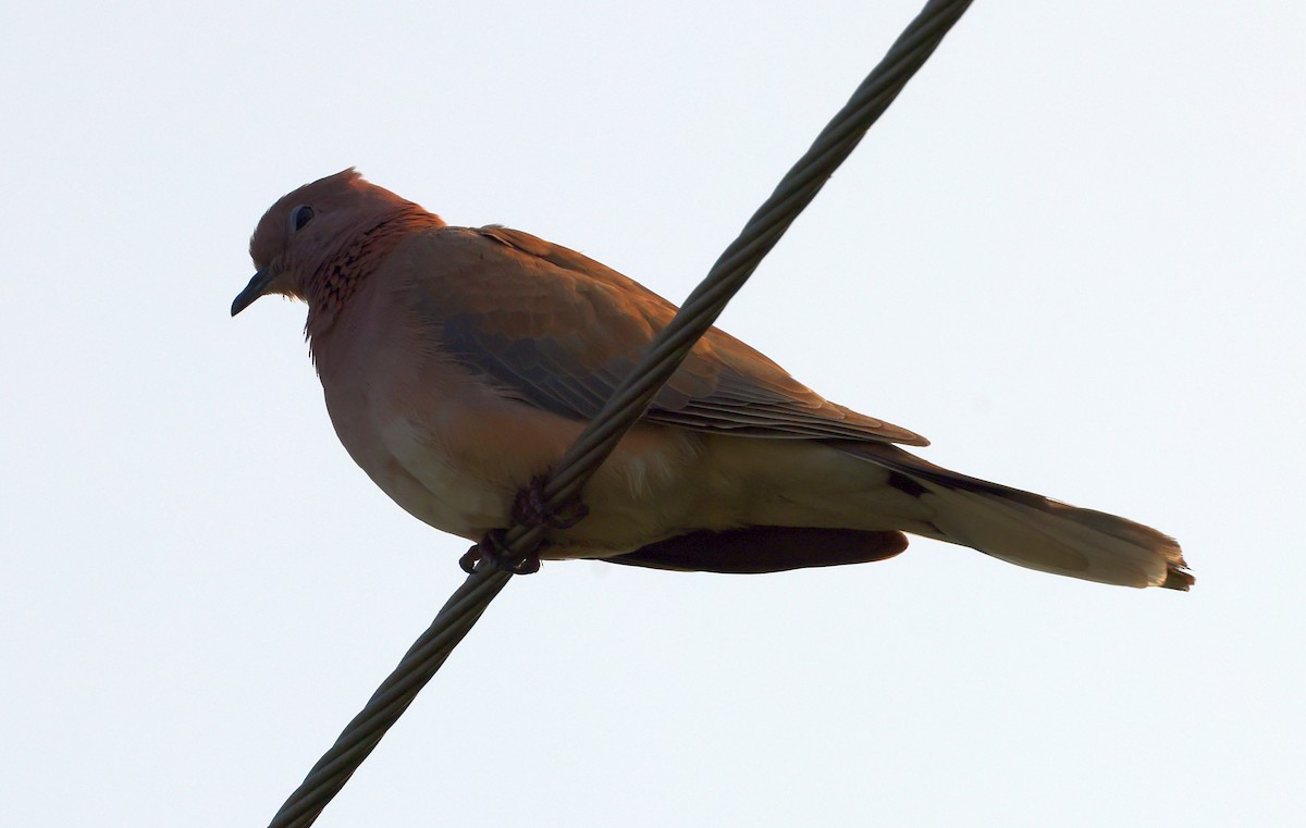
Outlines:
{"type": "Polygon", "coordinates": [[[1194,584],[1169,535],[934,465],[901,448],[925,438],[825,400],[717,328],[579,502],[542,513],[542,481],[671,302],[528,232],[447,225],[353,167],[277,200],[249,255],[256,273],[231,315],[269,294],[307,303],[353,460],[471,552],[494,551],[515,520],[543,522],[535,560],[516,571],[598,559],[780,572],[883,560],[913,534],[1088,581],[1194,584]]]}

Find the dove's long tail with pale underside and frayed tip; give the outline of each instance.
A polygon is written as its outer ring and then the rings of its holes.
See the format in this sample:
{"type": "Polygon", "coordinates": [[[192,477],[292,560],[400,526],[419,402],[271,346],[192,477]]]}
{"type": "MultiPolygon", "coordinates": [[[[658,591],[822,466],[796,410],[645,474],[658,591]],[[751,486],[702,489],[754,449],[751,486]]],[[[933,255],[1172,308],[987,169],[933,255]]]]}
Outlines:
{"type": "Polygon", "coordinates": [[[957,474],[895,445],[863,443],[845,451],[887,469],[891,486],[918,498],[940,541],[1104,584],[1186,590],[1194,582],[1179,545],[1156,529],[957,474]]]}

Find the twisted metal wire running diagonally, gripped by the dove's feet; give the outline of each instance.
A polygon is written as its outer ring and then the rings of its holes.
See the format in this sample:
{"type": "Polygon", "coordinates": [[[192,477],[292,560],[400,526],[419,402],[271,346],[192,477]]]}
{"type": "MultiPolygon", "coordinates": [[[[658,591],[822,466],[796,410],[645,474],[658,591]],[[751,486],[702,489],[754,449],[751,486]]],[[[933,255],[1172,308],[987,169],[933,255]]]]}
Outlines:
{"type": "MultiPolygon", "coordinates": [[[[969,5],[970,0],[927,3],[889,47],[879,65],[781,179],[776,191],[744,225],[739,238],[717,259],[675,319],[658,333],[640,363],[558,462],[543,490],[550,508],[556,509],[580,494],[699,337],[721,315],[726,302],[743,287],[761,259],[934,54],[969,5]]],[[[539,546],[545,532],[543,526],[528,529],[516,525],[505,533],[504,541],[513,554],[525,555],[539,546]]],[[[306,828],[317,819],[511,577],[511,573],[486,563],[468,576],[363,710],[349,722],[281,806],[269,828],[306,828]]]]}

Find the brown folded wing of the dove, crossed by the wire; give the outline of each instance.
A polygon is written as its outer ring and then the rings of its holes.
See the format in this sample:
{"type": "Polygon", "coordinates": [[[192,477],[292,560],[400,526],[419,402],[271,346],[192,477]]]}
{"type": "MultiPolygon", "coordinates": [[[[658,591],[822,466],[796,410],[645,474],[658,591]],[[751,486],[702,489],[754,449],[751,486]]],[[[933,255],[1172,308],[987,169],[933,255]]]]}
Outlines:
{"type": "MultiPolygon", "coordinates": [[[[592,259],[505,227],[424,231],[401,255],[413,302],[447,357],[573,419],[599,410],[677,310],[592,259]]],[[[716,328],[644,419],[739,436],[927,444],[821,398],[716,328]]]]}

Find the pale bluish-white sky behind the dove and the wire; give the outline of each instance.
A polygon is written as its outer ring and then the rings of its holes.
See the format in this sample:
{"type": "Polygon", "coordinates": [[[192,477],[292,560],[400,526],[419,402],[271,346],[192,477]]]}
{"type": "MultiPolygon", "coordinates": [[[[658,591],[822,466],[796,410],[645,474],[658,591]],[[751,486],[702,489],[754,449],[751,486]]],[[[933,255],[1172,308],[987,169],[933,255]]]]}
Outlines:
{"type": "MultiPolygon", "coordinates": [[[[462,582],[303,306],[229,319],[268,205],[357,165],[679,300],[919,5],[9,4],[0,821],[266,824],[462,582]]],[[[1301,824],[1303,40],[981,1],[722,319],[1194,592],[546,564],[317,824],[1301,824]]]]}

